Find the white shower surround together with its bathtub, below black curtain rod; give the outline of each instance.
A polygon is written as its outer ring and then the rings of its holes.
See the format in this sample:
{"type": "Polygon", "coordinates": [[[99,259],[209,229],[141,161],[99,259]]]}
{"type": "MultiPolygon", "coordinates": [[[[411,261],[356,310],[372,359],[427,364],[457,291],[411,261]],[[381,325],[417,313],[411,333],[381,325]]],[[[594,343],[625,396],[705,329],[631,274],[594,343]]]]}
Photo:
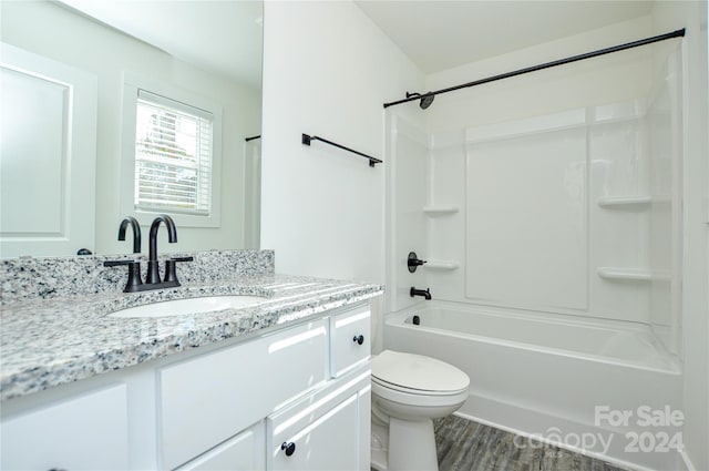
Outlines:
{"type": "Polygon", "coordinates": [[[682,51],[618,55],[388,112],[383,345],[466,371],[479,421],[615,433],[571,448],[675,469],[675,449],[626,447],[659,430],[596,416],[681,410],[682,51]],[[414,274],[410,250],[428,260],[414,274]],[[411,286],[455,315],[413,326],[411,286]]]}

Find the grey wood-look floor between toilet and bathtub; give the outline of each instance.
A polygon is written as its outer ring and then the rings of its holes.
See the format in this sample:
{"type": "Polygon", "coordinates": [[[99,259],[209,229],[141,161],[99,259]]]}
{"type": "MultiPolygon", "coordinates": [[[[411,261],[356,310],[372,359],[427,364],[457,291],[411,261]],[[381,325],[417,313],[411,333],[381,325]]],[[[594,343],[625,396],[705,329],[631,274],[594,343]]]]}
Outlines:
{"type": "Polygon", "coordinates": [[[551,444],[516,447],[515,434],[455,416],[434,430],[440,471],[624,471],[551,444]]]}

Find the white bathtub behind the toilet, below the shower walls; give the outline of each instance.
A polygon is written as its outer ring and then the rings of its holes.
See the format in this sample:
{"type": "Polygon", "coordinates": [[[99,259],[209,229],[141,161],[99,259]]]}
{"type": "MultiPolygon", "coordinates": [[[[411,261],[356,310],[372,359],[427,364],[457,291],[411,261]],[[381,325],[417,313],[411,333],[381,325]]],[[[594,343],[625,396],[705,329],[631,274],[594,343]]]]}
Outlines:
{"type": "Polygon", "coordinates": [[[684,469],[680,364],[648,326],[422,301],[388,315],[383,340],[465,371],[463,417],[630,469],[684,469]]]}

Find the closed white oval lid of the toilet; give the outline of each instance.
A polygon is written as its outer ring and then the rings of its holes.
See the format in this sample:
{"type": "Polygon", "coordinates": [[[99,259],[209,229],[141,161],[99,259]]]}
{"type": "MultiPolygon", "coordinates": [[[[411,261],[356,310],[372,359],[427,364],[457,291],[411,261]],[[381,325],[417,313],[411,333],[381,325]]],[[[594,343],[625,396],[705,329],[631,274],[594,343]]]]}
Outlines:
{"type": "Polygon", "coordinates": [[[460,391],[470,378],[460,369],[435,358],[384,350],[372,359],[372,377],[391,385],[421,391],[460,391]]]}

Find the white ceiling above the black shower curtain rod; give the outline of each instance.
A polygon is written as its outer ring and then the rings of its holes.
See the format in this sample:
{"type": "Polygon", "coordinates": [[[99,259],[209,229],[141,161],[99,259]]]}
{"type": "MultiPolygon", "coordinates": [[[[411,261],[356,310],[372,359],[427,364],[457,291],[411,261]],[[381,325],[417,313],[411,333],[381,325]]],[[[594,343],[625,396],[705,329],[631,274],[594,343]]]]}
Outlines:
{"type": "Polygon", "coordinates": [[[434,73],[650,12],[641,0],[356,0],[419,66],[434,73]]]}

